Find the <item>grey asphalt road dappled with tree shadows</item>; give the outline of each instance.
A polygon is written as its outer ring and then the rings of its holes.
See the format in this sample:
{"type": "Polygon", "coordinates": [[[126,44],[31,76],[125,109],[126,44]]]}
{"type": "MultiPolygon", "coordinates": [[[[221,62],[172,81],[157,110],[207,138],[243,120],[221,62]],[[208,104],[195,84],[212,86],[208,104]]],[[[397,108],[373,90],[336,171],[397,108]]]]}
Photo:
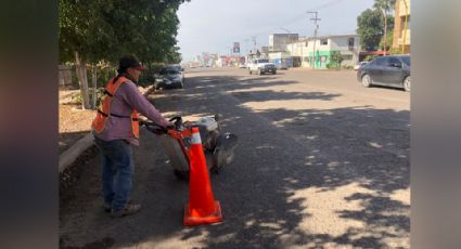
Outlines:
{"type": "Polygon", "coordinates": [[[410,94],[362,88],[354,71],[196,68],[185,89],[152,94],[166,116],[219,114],[239,135],[235,160],[212,175],[223,222],[184,227],[188,184],[143,130],[132,199],[102,210],[100,162],[63,192],[63,248],[409,248],[410,94]]]}

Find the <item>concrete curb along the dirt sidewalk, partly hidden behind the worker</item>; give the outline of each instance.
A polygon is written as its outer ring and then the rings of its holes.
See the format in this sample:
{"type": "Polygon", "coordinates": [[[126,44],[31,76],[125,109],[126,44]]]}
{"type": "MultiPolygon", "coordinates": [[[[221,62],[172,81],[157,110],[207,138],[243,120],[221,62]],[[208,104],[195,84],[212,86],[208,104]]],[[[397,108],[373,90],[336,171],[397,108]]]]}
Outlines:
{"type": "MultiPolygon", "coordinates": [[[[155,90],[154,86],[150,86],[142,95],[146,96],[153,90],[155,90]]],[[[89,132],[82,139],[75,142],[75,144],[69,148],[61,153],[59,159],[60,173],[64,172],[64,170],[67,169],[67,167],[71,166],[82,153],[91,147],[91,145],[93,145],[93,135],[89,132]]]]}

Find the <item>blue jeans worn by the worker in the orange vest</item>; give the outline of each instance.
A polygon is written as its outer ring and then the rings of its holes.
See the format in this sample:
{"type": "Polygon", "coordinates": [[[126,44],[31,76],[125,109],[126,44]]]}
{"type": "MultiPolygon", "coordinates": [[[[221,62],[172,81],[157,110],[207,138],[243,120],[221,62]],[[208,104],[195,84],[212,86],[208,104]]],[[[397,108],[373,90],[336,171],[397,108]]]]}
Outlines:
{"type": "Polygon", "coordinates": [[[103,141],[97,136],[94,143],[101,153],[104,202],[113,211],[121,210],[127,205],[135,173],[131,145],[125,140],[103,141]]]}

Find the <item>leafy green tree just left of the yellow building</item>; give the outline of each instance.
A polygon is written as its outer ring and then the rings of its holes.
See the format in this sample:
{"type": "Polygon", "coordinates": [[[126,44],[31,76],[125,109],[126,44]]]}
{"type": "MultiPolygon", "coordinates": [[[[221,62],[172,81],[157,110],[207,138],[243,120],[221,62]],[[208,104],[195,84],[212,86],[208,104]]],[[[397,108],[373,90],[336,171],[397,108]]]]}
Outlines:
{"type": "Polygon", "coordinates": [[[361,47],[367,51],[375,51],[383,37],[383,23],[377,10],[367,9],[357,17],[357,34],[361,47]]]}

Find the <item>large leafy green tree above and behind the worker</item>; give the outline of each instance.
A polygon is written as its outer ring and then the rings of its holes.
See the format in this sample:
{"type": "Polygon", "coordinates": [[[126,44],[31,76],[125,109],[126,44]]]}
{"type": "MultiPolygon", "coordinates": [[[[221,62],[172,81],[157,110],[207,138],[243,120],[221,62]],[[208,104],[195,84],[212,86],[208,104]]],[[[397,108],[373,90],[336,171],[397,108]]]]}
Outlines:
{"type": "Polygon", "coordinates": [[[145,64],[180,58],[176,12],[184,1],[60,0],[60,61],[75,61],[85,108],[87,63],[116,65],[125,54],[136,54],[145,64]]]}

